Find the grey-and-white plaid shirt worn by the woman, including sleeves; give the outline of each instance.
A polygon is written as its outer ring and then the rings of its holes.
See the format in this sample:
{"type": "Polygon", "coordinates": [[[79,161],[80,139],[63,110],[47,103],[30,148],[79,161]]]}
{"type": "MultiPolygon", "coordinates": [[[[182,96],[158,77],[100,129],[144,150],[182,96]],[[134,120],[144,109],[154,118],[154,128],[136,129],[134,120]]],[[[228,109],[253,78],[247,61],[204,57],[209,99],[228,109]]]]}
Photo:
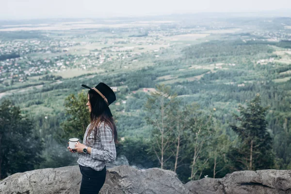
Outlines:
{"type": "Polygon", "coordinates": [[[91,147],[91,154],[78,152],[79,159],[77,163],[100,171],[107,162],[115,161],[116,148],[113,139],[114,135],[112,134],[112,129],[108,125],[105,125],[104,131],[104,122],[101,122],[98,126],[96,139],[94,139],[94,130],[92,130],[86,142],[86,136],[90,125],[91,124],[88,125],[84,134],[83,144],[91,147]]]}

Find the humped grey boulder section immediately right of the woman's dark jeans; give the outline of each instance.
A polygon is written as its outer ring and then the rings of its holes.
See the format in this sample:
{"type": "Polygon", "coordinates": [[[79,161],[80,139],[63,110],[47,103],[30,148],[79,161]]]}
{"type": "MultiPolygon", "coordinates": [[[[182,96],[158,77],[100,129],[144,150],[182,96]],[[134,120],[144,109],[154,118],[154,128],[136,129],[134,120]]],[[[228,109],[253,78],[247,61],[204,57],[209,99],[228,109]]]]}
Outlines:
{"type": "Polygon", "coordinates": [[[191,194],[176,173],[161,168],[138,170],[127,165],[107,171],[100,194],[191,194]]]}

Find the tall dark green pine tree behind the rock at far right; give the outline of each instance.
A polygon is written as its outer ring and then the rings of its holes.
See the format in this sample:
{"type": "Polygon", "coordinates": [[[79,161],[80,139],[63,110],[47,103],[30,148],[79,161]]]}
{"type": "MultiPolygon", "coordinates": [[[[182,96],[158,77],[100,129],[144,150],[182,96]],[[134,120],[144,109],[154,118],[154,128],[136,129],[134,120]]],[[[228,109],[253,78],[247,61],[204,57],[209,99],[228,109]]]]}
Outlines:
{"type": "Polygon", "coordinates": [[[260,106],[259,94],[244,108],[239,106],[241,116],[234,115],[240,121],[240,127],[230,127],[238,134],[239,144],[232,148],[229,156],[236,170],[269,169],[274,166],[272,138],[267,131],[266,111],[269,107],[260,106]]]}

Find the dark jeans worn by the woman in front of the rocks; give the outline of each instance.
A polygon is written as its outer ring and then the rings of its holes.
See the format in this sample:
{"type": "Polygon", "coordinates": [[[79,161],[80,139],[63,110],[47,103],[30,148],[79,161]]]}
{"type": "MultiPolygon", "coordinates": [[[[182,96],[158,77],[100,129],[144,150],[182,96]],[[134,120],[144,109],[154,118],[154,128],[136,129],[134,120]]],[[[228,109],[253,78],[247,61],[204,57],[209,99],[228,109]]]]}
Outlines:
{"type": "Polygon", "coordinates": [[[106,178],[106,166],[101,171],[90,167],[81,166],[82,182],[80,194],[98,194],[106,178]]]}

